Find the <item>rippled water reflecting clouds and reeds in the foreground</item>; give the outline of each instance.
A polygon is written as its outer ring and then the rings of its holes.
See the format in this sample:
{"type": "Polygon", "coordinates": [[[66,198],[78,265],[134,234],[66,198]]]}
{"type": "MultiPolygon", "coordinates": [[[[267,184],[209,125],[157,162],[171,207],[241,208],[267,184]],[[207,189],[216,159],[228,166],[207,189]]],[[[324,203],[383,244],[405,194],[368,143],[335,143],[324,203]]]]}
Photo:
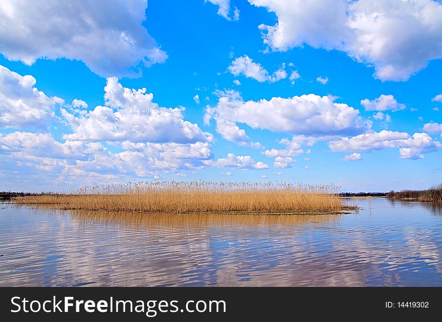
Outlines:
{"type": "Polygon", "coordinates": [[[147,215],[0,204],[0,286],[442,286],[442,210],[147,215]]]}

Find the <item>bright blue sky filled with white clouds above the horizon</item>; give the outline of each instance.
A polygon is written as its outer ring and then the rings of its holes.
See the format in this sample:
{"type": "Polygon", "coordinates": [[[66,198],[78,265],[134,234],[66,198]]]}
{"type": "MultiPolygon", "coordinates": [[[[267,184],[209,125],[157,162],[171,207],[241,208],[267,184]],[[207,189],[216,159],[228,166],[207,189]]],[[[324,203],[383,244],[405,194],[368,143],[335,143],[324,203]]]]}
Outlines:
{"type": "Polygon", "coordinates": [[[442,2],[0,2],[0,190],[442,182],[442,2]]]}

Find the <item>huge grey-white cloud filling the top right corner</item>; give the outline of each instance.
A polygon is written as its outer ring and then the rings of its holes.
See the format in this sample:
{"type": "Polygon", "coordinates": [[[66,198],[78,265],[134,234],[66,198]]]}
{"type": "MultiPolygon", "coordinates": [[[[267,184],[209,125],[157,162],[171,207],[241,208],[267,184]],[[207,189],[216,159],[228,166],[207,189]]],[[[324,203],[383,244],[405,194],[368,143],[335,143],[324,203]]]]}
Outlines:
{"type": "Polygon", "coordinates": [[[274,12],[264,43],[285,51],[308,44],[340,50],[375,67],[382,81],[406,80],[442,58],[442,5],[431,0],[249,0],[274,12]],[[416,50],[425,48],[425,50],[416,50]]]}

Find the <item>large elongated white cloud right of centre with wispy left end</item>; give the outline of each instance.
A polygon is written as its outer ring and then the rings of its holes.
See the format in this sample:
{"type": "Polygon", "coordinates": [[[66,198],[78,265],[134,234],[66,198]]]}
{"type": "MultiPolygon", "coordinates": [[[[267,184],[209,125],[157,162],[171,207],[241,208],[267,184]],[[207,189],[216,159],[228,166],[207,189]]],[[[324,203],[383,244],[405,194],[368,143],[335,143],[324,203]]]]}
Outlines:
{"type": "Polygon", "coordinates": [[[207,123],[213,118],[220,124],[216,131],[234,142],[250,142],[237,123],[254,129],[314,136],[354,135],[365,132],[370,125],[357,109],[336,103],[329,96],[308,94],[245,102],[237,91],[219,92],[218,95],[216,106],[206,108],[204,120],[207,123]]]}

